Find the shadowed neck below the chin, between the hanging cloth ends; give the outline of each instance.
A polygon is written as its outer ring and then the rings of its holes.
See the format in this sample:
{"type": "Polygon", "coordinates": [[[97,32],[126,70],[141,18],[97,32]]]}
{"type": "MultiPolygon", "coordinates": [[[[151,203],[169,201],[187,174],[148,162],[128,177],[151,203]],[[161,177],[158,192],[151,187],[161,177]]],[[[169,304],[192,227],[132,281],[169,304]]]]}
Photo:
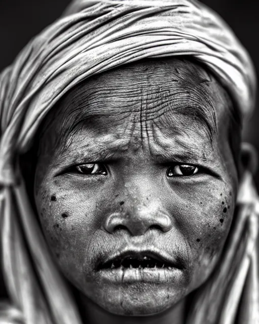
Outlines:
{"type": "Polygon", "coordinates": [[[88,298],[80,297],[80,311],[83,323],[88,324],[183,324],[185,314],[185,300],[160,314],[152,316],[120,316],[114,315],[98,305],[91,302],[88,298]]]}

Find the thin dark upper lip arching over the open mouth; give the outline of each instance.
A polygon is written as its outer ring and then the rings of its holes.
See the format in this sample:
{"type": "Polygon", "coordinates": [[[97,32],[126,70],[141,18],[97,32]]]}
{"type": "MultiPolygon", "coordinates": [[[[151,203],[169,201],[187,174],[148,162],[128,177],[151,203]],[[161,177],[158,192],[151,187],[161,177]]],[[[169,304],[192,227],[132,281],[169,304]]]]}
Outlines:
{"type": "Polygon", "coordinates": [[[123,260],[126,258],[136,258],[136,259],[143,259],[144,257],[148,257],[158,262],[162,262],[166,264],[166,266],[184,269],[185,262],[179,256],[168,255],[167,253],[161,252],[158,249],[125,249],[120,253],[114,253],[108,258],[104,259],[103,262],[99,263],[98,269],[105,268],[105,265],[116,262],[118,260],[123,260]]]}

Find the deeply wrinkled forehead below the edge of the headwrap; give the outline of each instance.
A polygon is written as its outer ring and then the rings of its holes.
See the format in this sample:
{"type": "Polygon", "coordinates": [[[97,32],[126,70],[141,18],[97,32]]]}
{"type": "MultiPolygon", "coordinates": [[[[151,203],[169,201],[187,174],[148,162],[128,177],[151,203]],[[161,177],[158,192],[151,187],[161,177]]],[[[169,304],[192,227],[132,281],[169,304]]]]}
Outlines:
{"type": "Polygon", "coordinates": [[[146,60],[85,80],[61,100],[56,118],[66,135],[82,125],[130,121],[140,128],[144,122],[160,124],[169,134],[178,126],[196,127],[211,140],[229,101],[218,80],[197,62],[146,60]]]}

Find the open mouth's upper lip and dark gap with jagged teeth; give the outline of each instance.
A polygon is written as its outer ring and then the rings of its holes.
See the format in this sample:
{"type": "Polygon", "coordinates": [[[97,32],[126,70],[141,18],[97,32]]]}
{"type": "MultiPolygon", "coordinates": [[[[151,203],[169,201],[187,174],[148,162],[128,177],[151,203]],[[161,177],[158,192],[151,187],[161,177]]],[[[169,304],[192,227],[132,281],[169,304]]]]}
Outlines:
{"type": "Polygon", "coordinates": [[[100,263],[97,270],[121,269],[184,269],[184,264],[179,258],[170,258],[151,251],[125,251],[111,256],[100,263]]]}

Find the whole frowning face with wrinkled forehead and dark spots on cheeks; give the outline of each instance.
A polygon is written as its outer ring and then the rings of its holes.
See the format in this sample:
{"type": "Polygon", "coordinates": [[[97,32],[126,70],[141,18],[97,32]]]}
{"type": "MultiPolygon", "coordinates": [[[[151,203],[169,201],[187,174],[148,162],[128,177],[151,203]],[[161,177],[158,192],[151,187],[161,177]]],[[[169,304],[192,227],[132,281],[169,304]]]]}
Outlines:
{"type": "Polygon", "coordinates": [[[237,189],[228,103],[211,75],[175,59],[89,79],[47,117],[35,203],[84,296],[116,314],[158,313],[217,266],[237,189]]]}

